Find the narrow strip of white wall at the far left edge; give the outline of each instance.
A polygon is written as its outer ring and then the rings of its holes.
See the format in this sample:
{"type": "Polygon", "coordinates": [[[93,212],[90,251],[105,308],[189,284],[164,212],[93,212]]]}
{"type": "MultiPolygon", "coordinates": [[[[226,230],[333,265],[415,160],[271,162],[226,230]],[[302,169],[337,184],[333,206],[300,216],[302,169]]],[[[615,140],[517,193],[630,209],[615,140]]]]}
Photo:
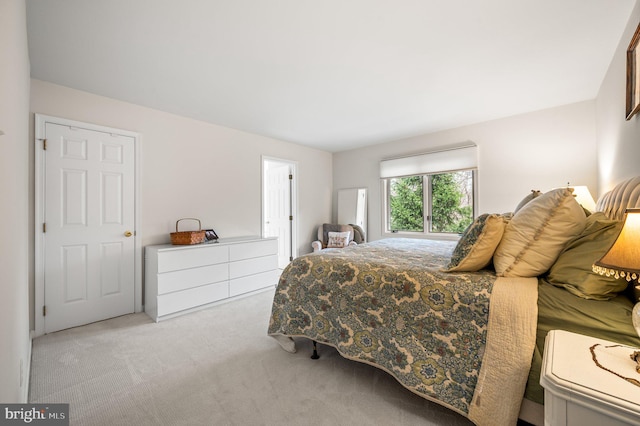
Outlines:
{"type": "Polygon", "coordinates": [[[27,402],[29,56],[24,0],[0,0],[0,401],[27,402]]]}

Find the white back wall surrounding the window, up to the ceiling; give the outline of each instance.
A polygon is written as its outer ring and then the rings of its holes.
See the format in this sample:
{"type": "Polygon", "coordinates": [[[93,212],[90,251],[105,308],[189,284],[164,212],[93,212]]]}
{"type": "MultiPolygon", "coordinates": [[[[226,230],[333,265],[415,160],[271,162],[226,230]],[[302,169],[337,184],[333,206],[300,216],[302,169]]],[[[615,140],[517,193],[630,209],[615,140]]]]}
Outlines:
{"type": "Polygon", "coordinates": [[[478,145],[479,213],[513,211],[531,189],[567,182],[597,198],[595,134],[595,101],[585,101],[336,153],[333,186],[369,189],[370,240],[392,236],[382,233],[379,161],[465,141],[478,145]]]}

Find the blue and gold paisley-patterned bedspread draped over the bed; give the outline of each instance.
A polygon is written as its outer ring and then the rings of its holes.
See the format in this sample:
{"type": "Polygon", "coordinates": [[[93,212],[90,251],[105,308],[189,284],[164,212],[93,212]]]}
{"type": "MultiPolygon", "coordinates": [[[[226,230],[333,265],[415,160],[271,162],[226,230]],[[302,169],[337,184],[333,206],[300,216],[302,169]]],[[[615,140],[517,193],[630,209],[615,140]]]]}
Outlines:
{"type": "Polygon", "coordinates": [[[330,344],[468,416],[496,276],[442,272],[454,247],[394,238],[302,256],[282,273],[268,333],[330,344]]]}

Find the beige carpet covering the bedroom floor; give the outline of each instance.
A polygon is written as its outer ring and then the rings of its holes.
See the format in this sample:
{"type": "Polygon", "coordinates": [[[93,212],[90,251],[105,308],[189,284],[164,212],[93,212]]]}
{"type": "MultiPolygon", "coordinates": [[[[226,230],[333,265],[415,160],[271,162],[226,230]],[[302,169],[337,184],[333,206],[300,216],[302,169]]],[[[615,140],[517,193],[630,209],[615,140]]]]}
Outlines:
{"type": "Polygon", "coordinates": [[[154,323],[126,315],[33,341],[29,401],[72,425],[469,425],[388,374],[266,335],[273,291],[154,323]]]}

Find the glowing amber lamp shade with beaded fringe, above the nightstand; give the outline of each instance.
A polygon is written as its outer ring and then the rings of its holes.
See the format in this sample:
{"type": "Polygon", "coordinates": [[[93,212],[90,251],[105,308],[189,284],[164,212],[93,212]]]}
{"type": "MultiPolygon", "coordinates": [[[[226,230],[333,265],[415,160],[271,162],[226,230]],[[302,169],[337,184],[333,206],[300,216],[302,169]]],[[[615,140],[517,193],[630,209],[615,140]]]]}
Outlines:
{"type": "Polygon", "coordinates": [[[627,281],[640,277],[640,209],[627,209],[618,238],[609,251],[593,264],[600,275],[623,277],[627,281]]]}

